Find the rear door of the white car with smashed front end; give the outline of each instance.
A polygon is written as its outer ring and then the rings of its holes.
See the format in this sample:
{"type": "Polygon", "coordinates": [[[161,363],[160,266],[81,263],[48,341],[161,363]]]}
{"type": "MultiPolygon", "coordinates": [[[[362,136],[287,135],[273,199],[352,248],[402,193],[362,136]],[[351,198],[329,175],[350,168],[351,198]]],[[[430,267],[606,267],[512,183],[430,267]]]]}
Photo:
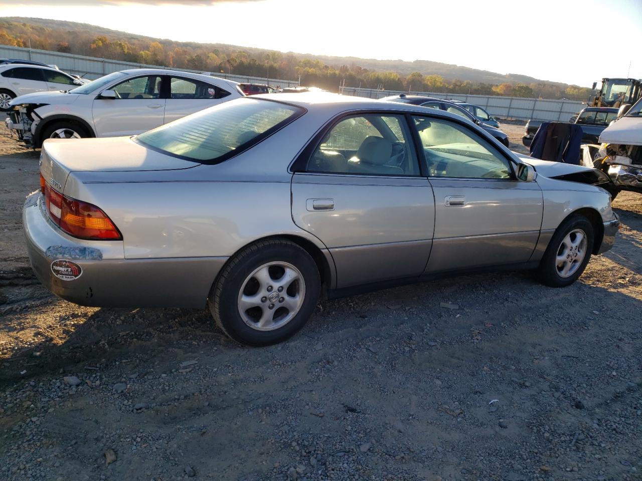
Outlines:
{"type": "Polygon", "coordinates": [[[175,121],[225,101],[230,92],[216,85],[185,77],[169,77],[164,123],[175,121]]]}

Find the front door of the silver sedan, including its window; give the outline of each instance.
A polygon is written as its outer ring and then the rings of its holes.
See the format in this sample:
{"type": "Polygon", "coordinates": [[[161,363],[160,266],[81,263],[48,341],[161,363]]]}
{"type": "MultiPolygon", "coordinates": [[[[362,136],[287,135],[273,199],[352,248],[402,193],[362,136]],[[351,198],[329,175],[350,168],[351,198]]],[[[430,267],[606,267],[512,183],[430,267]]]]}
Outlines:
{"type": "Polygon", "coordinates": [[[413,117],[435,192],[435,238],[426,272],[527,262],[542,224],[537,182],[514,176],[492,142],[469,126],[413,117]]]}

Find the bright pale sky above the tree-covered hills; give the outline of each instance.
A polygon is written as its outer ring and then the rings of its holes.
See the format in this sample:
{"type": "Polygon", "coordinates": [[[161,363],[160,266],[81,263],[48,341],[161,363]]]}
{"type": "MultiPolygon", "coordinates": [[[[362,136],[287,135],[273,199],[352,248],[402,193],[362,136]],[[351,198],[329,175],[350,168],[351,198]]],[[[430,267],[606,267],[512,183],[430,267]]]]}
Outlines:
{"type": "Polygon", "coordinates": [[[590,87],[642,78],[642,0],[0,0],[40,17],[193,42],[433,60],[590,87]]]}

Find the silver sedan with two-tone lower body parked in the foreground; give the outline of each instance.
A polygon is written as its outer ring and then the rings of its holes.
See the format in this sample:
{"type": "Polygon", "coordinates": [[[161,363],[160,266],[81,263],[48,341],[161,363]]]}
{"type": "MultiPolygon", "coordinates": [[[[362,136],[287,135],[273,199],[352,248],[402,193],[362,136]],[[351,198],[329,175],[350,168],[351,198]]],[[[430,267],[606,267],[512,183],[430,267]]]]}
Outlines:
{"type": "Polygon", "coordinates": [[[489,267],[569,285],[611,248],[600,171],[510,152],[458,115],[333,94],[230,101],[137,137],[47,140],[33,269],[102,307],[205,307],[282,341],[320,296],[489,267]]]}

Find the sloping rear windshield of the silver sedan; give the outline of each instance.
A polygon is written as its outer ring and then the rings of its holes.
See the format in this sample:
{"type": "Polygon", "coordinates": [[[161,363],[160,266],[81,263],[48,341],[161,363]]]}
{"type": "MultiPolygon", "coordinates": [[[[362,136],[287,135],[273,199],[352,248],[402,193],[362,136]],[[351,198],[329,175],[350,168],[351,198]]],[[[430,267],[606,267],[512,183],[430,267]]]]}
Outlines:
{"type": "Polygon", "coordinates": [[[304,109],[265,99],[237,99],[187,115],[136,140],[195,162],[216,164],[272,135],[304,109]]]}

